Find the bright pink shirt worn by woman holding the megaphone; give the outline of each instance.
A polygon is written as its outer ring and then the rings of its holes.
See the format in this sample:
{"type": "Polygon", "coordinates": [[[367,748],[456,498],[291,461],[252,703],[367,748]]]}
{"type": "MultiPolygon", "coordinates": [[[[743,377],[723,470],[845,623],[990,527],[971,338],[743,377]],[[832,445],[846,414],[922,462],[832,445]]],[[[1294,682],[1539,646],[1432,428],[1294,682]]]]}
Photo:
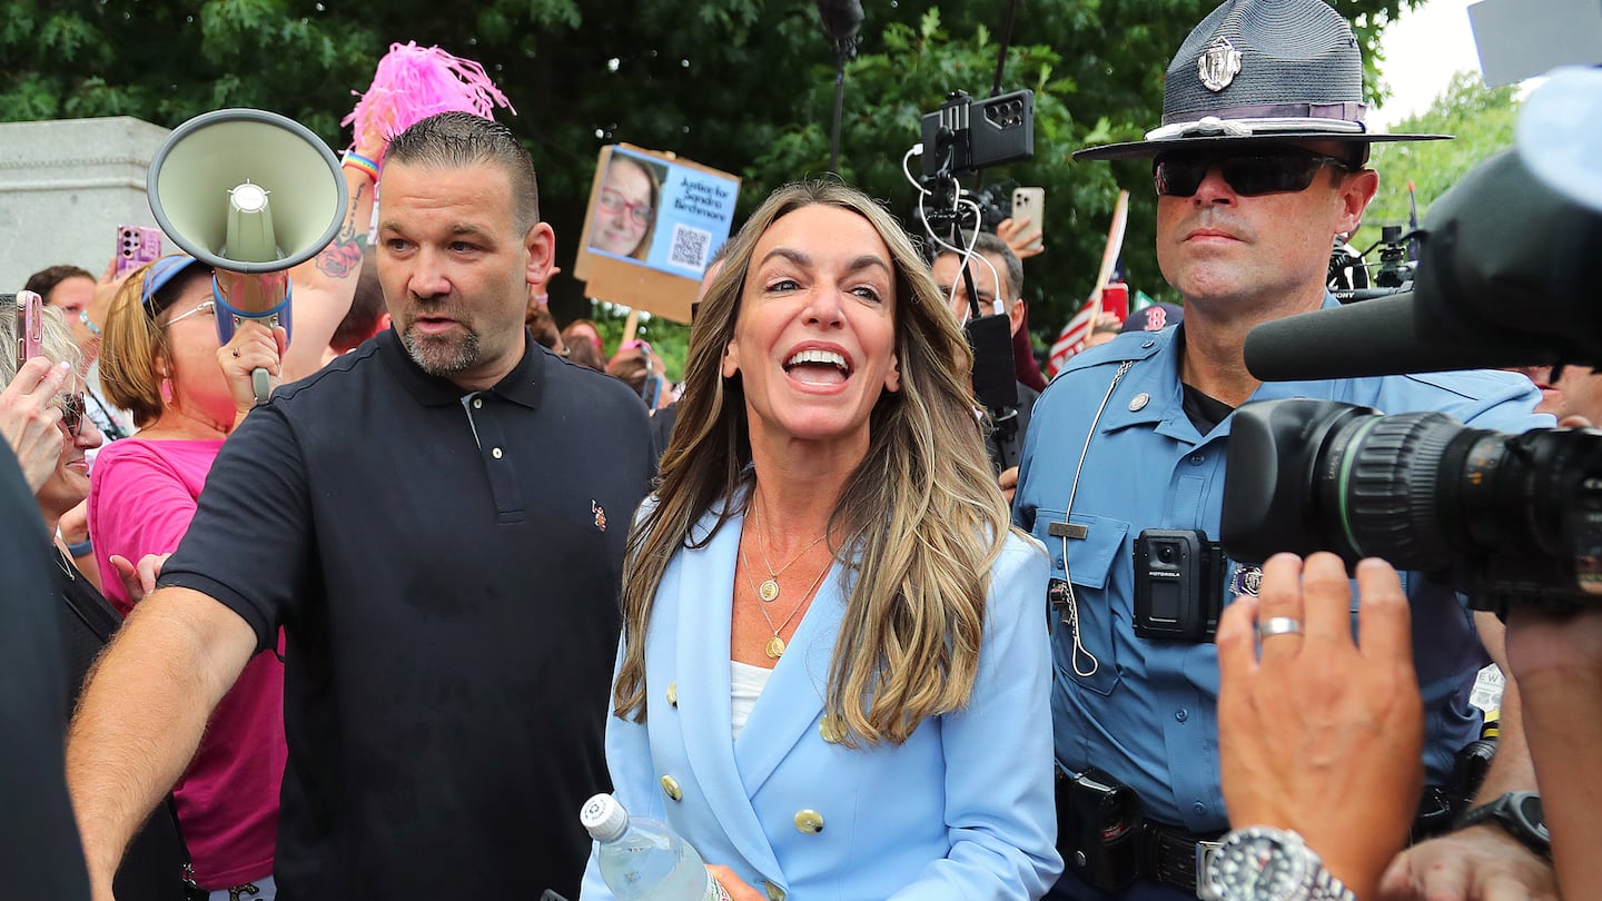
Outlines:
{"type": "MultiPolygon", "coordinates": [[[[90,479],[90,537],[106,598],[133,609],[111,555],[138,563],[178,550],[221,441],[107,444],[90,479]]],[[[282,651],[282,641],[280,641],[282,651]]],[[[284,779],[284,664],[256,654],[223,696],[200,749],[173,789],[195,882],[227,888],[272,872],[284,779]]]]}

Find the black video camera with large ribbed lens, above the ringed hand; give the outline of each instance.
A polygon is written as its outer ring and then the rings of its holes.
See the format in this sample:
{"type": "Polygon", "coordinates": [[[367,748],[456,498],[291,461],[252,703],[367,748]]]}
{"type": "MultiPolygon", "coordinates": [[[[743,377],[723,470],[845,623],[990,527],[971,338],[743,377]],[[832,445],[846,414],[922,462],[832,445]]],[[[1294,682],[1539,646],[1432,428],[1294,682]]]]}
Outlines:
{"type": "Polygon", "coordinates": [[[1224,476],[1235,560],[1328,550],[1448,574],[1479,609],[1602,595],[1602,431],[1503,434],[1333,401],[1235,410],[1224,476]]]}

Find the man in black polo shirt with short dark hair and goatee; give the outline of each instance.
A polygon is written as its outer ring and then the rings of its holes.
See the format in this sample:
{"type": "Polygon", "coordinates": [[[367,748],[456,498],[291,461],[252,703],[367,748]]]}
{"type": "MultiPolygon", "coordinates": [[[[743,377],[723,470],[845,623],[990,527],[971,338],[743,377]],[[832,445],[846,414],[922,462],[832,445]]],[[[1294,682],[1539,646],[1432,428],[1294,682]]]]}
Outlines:
{"type": "Polygon", "coordinates": [[[577,896],[646,410],[524,330],[554,239],[505,127],[420,122],[383,191],[392,329],[235,430],[74,723],[99,898],[279,625],[279,898],[577,896]]]}

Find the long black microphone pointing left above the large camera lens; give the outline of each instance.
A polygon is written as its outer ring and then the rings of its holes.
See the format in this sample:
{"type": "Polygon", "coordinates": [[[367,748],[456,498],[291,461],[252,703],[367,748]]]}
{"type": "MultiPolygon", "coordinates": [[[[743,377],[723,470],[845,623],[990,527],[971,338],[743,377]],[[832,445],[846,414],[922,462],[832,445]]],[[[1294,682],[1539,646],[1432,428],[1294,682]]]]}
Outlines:
{"type": "Polygon", "coordinates": [[[1264,382],[1307,382],[1557,362],[1554,348],[1538,338],[1506,332],[1448,338],[1434,333],[1432,317],[1423,319],[1411,293],[1286,316],[1246,335],[1246,369],[1264,382]]]}

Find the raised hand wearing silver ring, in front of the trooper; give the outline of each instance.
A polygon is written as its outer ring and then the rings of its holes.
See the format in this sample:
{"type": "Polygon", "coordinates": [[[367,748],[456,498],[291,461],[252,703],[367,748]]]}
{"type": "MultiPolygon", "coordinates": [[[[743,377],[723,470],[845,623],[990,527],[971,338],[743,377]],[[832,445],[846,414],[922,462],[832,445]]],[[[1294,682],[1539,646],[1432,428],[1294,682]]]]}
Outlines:
{"type": "Polygon", "coordinates": [[[1218,734],[1235,827],[1299,832],[1358,898],[1407,843],[1424,786],[1424,709],[1395,569],[1357,568],[1360,643],[1346,564],[1288,553],[1262,566],[1218,627],[1218,734]],[[1274,638],[1274,641],[1269,641],[1274,638]]]}

